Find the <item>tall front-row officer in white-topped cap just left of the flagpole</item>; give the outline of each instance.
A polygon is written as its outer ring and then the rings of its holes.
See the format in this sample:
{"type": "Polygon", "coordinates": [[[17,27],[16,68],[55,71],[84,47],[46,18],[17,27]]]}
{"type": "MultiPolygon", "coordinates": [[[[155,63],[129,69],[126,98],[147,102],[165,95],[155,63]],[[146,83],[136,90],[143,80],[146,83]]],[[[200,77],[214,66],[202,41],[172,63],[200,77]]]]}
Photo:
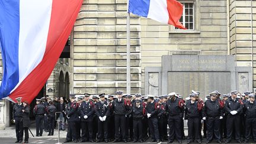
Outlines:
{"type": "Polygon", "coordinates": [[[114,121],[115,121],[115,139],[113,142],[119,142],[119,129],[121,136],[123,138],[123,142],[127,142],[126,140],[126,114],[129,111],[129,107],[127,107],[126,101],[122,98],[123,91],[117,91],[117,99],[113,102],[114,108],[114,121]]]}

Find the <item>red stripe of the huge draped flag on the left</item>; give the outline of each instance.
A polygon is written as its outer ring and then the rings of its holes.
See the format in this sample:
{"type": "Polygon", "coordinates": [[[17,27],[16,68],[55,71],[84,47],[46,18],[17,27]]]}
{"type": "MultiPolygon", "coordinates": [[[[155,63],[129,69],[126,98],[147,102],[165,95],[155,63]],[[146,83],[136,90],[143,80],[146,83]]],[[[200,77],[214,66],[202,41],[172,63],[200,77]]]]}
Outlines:
{"type": "Polygon", "coordinates": [[[83,0],[53,0],[44,57],[20,86],[9,95],[13,101],[17,97],[23,97],[23,101],[31,103],[43,88],[68,40],[82,2],[83,0]]]}

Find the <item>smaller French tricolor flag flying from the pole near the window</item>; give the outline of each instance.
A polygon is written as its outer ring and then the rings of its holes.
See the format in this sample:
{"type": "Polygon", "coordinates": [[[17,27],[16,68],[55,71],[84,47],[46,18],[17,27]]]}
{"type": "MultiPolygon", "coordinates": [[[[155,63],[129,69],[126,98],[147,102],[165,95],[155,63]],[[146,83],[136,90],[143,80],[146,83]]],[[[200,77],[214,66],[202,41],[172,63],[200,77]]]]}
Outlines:
{"type": "Polygon", "coordinates": [[[129,0],[128,4],[128,12],[151,18],[163,24],[171,24],[175,27],[186,29],[179,21],[183,13],[183,5],[178,1],[129,0]]]}

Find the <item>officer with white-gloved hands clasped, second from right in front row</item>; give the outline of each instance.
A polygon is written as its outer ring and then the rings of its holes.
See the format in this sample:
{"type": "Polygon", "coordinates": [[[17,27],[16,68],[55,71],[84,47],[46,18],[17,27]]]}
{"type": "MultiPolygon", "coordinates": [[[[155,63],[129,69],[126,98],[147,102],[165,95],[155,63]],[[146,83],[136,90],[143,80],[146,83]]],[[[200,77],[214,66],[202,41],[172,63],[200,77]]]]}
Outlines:
{"type": "Polygon", "coordinates": [[[238,98],[236,98],[237,94],[237,91],[232,91],[231,97],[225,102],[225,111],[228,114],[226,120],[227,138],[225,143],[231,142],[234,128],[236,141],[238,143],[242,143],[240,133],[241,116],[239,114],[242,111],[243,104],[241,100],[238,100],[238,98]]]}

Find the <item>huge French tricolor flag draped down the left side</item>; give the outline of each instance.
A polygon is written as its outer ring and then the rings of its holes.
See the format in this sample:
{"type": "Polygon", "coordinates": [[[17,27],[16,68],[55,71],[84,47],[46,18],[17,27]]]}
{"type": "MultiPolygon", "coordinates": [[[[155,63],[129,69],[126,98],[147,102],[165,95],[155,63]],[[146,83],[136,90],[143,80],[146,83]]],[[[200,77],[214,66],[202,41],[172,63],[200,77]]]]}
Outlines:
{"type": "Polygon", "coordinates": [[[0,99],[31,103],[50,76],[82,0],[0,0],[0,99]]]}

